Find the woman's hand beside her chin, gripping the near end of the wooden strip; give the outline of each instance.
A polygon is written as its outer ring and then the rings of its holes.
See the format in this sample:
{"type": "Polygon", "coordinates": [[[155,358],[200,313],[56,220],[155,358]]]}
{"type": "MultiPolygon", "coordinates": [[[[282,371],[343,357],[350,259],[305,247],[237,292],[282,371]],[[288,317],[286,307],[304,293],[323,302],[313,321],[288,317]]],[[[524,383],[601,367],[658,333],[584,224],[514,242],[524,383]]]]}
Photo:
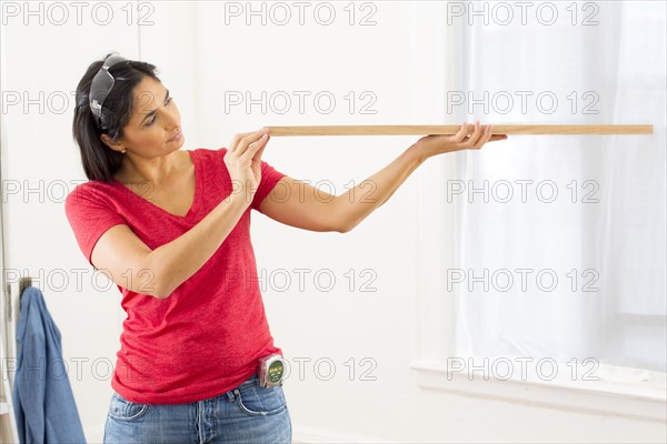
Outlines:
{"type": "Polygon", "coordinates": [[[233,193],[242,192],[250,200],[261,181],[261,154],[269,142],[269,129],[239,133],[233,137],[225,154],[225,164],[233,185],[233,193]]]}

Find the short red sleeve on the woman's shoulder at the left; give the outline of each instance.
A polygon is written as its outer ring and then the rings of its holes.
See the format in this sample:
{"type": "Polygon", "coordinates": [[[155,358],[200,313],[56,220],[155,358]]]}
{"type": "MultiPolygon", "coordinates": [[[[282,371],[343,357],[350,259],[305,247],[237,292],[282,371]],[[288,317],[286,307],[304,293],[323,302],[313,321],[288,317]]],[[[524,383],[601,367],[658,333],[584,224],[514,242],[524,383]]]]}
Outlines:
{"type": "Polygon", "coordinates": [[[81,184],[64,200],[64,212],[79,248],[91,265],[92,249],[100,236],[111,226],[126,223],[99,191],[81,184]]]}

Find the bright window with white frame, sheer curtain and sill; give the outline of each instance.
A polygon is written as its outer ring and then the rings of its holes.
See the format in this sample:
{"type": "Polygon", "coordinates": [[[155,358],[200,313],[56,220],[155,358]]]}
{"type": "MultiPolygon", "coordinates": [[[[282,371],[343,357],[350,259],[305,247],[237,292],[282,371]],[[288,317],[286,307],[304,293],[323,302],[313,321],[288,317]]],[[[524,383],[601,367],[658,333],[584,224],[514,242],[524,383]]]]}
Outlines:
{"type": "MultiPolygon", "coordinates": [[[[445,121],[651,123],[654,134],[510,137],[430,159],[414,366],[427,386],[551,405],[588,396],[589,408],[655,418],[667,371],[665,4],[597,4],[593,27],[445,30],[437,68],[466,100],[444,105],[445,121]],[[476,384],[484,370],[494,391],[476,384]],[[541,396],[554,387],[558,396],[541,396]]],[[[419,97],[429,83],[415,88],[419,97]]]]}

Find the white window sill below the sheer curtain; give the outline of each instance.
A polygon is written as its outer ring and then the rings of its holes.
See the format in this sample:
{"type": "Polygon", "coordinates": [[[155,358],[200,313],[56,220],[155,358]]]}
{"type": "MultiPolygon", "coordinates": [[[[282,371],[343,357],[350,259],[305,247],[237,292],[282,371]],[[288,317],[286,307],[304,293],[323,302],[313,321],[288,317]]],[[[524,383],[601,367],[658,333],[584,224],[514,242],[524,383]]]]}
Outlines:
{"type": "MultiPolygon", "coordinates": [[[[420,361],[414,362],[410,367],[417,371],[418,384],[422,389],[568,412],[667,422],[667,395],[663,373],[641,372],[643,381],[620,383],[618,380],[606,381],[606,377],[598,377],[597,381],[573,381],[560,371],[560,375],[552,381],[545,381],[530,374],[521,379],[498,379],[485,375],[479,370],[455,371],[420,361]]],[[[475,369],[480,366],[476,365],[475,369]]],[[[564,371],[566,369],[571,371],[563,367],[564,371]]],[[[611,380],[611,375],[618,374],[616,367],[611,366],[600,366],[598,371],[611,380]]]]}

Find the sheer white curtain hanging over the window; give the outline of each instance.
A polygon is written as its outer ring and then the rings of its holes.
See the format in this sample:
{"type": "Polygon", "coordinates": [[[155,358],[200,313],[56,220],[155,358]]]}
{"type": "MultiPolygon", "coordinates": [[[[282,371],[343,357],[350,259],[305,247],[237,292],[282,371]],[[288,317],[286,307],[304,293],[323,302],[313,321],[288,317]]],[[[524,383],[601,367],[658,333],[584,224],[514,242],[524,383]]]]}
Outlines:
{"type": "Polygon", "coordinates": [[[576,24],[566,10],[575,3],[551,2],[551,26],[535,19],[534,4],[525,26],[517,17],[508,26],[458,23],[461,92],[474,94],[470,103],[488,91],[490,104],[461,115],[485,124],[648,123],[654,134],[510,135],[459,157],[461,174],[446,183],[459,209],[460,270],[448,279],[457,347],[666,372],[665,2],[577,2],[576,24]],[[509,112],[502,94],[492,100],[501,91],[514,99],[509,112]],[[518,91],[532,92],[525,109],[518,91]]]}

